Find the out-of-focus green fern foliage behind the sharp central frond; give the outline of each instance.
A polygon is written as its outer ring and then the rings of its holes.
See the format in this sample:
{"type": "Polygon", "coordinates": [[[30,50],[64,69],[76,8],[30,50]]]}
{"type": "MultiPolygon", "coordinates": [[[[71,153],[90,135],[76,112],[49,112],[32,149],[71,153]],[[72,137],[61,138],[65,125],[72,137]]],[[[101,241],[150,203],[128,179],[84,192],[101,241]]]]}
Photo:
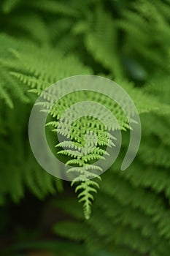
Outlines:
{"type": "Polygon", "coordinates": [[[169,256],[170,1],[2,0],[0,13],[1,255],[169,256]],[[82,74],[123,86],[142,121],[139,154],[120,172],[127,129],[88,220],[28,143],[35,94],[82,74]]]}

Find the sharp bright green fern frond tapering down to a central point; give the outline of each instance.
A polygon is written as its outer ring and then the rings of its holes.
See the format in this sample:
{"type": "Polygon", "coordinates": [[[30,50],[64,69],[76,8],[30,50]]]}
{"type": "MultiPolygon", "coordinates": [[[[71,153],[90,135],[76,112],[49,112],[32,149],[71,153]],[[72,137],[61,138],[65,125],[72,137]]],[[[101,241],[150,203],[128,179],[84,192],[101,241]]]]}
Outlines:
{"type": "MultiPolygon", "coordinates": [[[[74,63],[77,65],[79,61],[74,58],[73,56],[68,56],[65,59],[62,59],[62,54],[57,53],[58,58],[61,59],[59,61],[60,65],[56,65],[54,62],[54,51],[50,50],[47,46],[43,47],[42,49],[37,48],[34,44],[27,44],[26,48],[18,52],[18,50],[11,49],[10,54],[13,56],[14,62],[9,64],[9,61],[7,59],[4,61],[5,67],[8,67],[10,71],[10,75],[14,77],[15,79],[19,80],[20,83],[23,83],[28,88],[31,88],[31,92],[34,92],[38,95],[42,93],[42,91],[50,84],[54,83],[56,80],[61,78],[61,65],[63,65],[63,74],[65,74],[65,70],[69,70],[69,75],[74,74],[74,69],[70,69],[70,63],[74,61],[74,63]],[[34,61],[34,51],[36,51],[36,54],[39,56],[41,55],[41,61],[34,61]],[[28,53],[29,55],[28,55],[28,53]],[[25,61],[24,61],[25,59],[25,61]],[[44,60],[43,60],[44,59],[44,60]],[[18,62],[18,66],[15,66],[15,61],[18,62]],[[63,64],[61,64],[63,62],[63,64]],[[19,64],[20,63],[20,64],[19,64]],[[26,74],[26,75],[25,75],[26,74]],[[57,74],[59,75],[56,76],[57,74]]],[[[78,64],[79,65],[79,64],[78,64]]],[[[77,66],[78,67],[78,66],[77,66]]],[[[80,72],[87,72],[89,71],[88,68],[79,65],[80,72]]],[[[148,112],[150,110],[155,110],[156,112],[159,110],[159,102],[150,97],[149,95],[146,96],[142,94],[142,92],[138,92],[136,89],[133,88],[133,86],[129,85],[127,81],[122,80],[121,84],[125,86],[126,91],[132,96],[132,98],[136,101],[136,106],[139,110],[139,113],[148,112]],[[150,106],[150,100],[152,100],[152,106],[150,106]]],[[[60,93],[60,92],[58,92],[60,93]]],[[[42,94],[44,97],[45,102],[39,102],[39,105],[41,105],[42,108],[45,110],[50,108],[50,102],[55,101],[55,97],[53,97],[53,92],[51,94],[42,94]]],[[[70,116],[70,120],[65,120],[62,124],[62,126],[58,127],[57,120],[62,116],[62,113],[64,110],[69,108],[69,106],[74,105],[74,103],[83,101],[83,100],[90,100],[95,102],[100,102],[102,105],[105,105],[109,110],[112,111],[112,113],[117,118],[117,121],[119,123],[120,129],[126,130],[129,129],[128,120],[125,117],[125,114],[123,113],[123,110],[120,109],[120,107],[115,103],[113,104],[112,100],[107,97],[101,97],[100,94],[94,94],[93,92],[89,92],[88,94],[84,94],[81,92],[75,92],[74,94],[69,94],[66,97],[63,97],[56,105],[53,106],[53,108],[50,110],[50,115],[52,118],[56,118],[56,121],[53,121],[47,125],[53,124],[55,126],[54,132],[58,132],[58,134],[64,136],[65,138],[69,138],[70,131],[68,123],[72,121],[72,116],[70,116]]],[[[128,106],[126,107],[128,110],[128,106]]],[[[165,113],[168,111],[169,113],[169,106],[168,105],[162,105],[160,104],[161,113],[165,113]]],[[[102,116],[102,110],[98,109],[98,113],[102,116]]],[[[133,113],[129,112],[129,116],[133,116],[133,113]]],[[[112,127],[112,123],[109,121],[109,117],[105,117],[106,121],[105,124],[107,124],[107,129],[110,131],[109,134],[107,134],[106,129],[104,128],[103,124],[98,122],[96,118],[81,118],[81,120],[78,120],[74,123],[72,127],[71,132],[71,138],[75,141],[75,143],[80,143],[79,148],[85,145],[85,133],[87,132],[95,132],[98,137],[98,146],[97,148],[92,152],[82,152],[79,151],[59,151],[59,154],[64,154],[66,156],[72,157],[73,159],[69,159],[68,162],[66,162],[66,165],[77,165],[77,166],[84,166],[88,164],[91,160],[97,160],[97,159],[104,159],[104,150],[102,149],[103,146],[110,146],[114,147],[115,144],[113,142],[114,137],[112,137],[112,132],[114,132],[116,129],[118,129],[117,125],[115,124],[114,127],[112,127]],[[107,121],[108,119],[108,121],[107,121]],[[109,137],[108,137],[109,136],[109,137]],[[83,157],[80,157],[80,154],[84,154],[83,157]],[[90,153],[90,154],[89,154],[90,153]]],[[[54,119],[55,120],[55,119],[54,119]]],[[[133,121],[133,118],[131,119],[133,121]]],[[[61,124],[60,124],[61,125],[61,124]]],[[[89,140],[91,143],[91,139],[89,140]]],[[[60,144],[60,146],[63,146],[60,144]]],[[[68,145],[67,145],[68,146],[68,145]]],[[[89,147],[90,145],[88,145],[89,147]]],[[[92,145],[93,146],[93,145],[92,145]]],[[[101,173],[98,173],[101,174],[101,173]]],[[[76,183],[76,181],[87,180],[89,178],[95,178],[96,174],[94,175],[93,172],[90,173],[89,171],[85,169],[85,173],[80,174],[80,178],[77,178],[74,180],[73,184],[76,183]]],[[[77,185],[79,186],[79,185],[77,185]]],[[[84,210],[85,210],[85,217],[88,219],[90,216],[90,205],[91,200],[93,200],[93,196],[90,194],[90,192],[96,192],[96,186],[97,183],[90,183],[90,181],[83,181],[82,189],[85,190],[85,197],[82,197],[80,201],[85,201],[84,204],[84,210]],[[92,187],[94,186],[95,189],[93,190],[92,187]]],[[[83,194],[80,194],[83,195],[83,194]]]]}

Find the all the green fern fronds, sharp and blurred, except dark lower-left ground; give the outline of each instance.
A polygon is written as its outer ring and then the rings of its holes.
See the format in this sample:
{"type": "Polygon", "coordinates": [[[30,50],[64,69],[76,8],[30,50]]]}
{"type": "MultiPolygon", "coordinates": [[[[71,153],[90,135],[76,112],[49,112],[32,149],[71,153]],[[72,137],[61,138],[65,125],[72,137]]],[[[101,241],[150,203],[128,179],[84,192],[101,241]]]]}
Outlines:
{"type": "MultiPolygon", "coordinates": [[[[39,198],[63,191],[68,181],[50,176],[31,154],[31,107],[42,91],[62,78],[102,75],[119,83],[134,100],[142,121],[139,154],[128,170],[120,171],[131,124],[116,102],[90,91],[61,98],[50,110],[47,136],[53,154],[72,165],[68,173],[80,174],[72,185],[88,222],[77,198],[66,193],[55,197],[54,204],[69,217],[53,230],[83,243],[89,255],[169,256],[170,1],[4,0],[0,12],[1,205],[9,195],[18,202],[26,187],[39,198]],[[105,127],[97,118],[85,116],[72,124],[69,143],[69,120],[63,127],[58,121],[67,108],[84,100],[108,108],[119,127],[110,121],[105,127]],[[123,133],[120,156],[97,176],[93,170],[102,169],[94,164],[91,170],[90,163],[107,157],[108,142],[114,151],[116,129],[123,133]],[[63,142],[56,140],[55,132],[63,142]],[[93,137],[85,141],[90,132],[96,133],[97,143],[93,137]]],[[[45,97],[42,108],[47,110],[52,99],[53,94],[45,97]]]]}

